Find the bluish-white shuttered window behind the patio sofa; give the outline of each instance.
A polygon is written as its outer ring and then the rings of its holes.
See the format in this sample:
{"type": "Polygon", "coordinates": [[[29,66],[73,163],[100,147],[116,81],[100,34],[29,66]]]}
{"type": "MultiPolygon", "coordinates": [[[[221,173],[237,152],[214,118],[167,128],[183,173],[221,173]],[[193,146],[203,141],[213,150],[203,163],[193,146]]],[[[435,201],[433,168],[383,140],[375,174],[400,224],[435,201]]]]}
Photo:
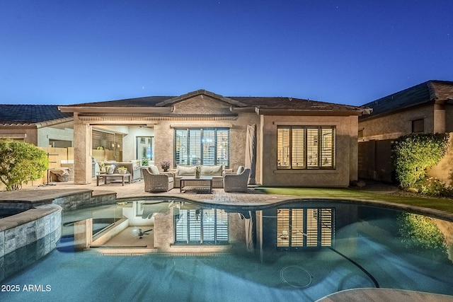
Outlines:
{"type": "Polygon", "coordinates": [[[229,129],[175,129],[176,165],[229,166],[229,129]]]}

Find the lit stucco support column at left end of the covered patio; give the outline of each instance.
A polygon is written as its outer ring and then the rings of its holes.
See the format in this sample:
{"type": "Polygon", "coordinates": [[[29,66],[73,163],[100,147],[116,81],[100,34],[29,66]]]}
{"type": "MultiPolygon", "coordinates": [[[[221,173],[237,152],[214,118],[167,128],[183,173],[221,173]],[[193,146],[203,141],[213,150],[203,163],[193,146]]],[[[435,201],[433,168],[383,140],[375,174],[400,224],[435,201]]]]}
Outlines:
{"type": "Polygon", "coordinates": [[[74,183],[91,183],[91,174],[91,125],[80,122],[74,112],[74,183]]]}

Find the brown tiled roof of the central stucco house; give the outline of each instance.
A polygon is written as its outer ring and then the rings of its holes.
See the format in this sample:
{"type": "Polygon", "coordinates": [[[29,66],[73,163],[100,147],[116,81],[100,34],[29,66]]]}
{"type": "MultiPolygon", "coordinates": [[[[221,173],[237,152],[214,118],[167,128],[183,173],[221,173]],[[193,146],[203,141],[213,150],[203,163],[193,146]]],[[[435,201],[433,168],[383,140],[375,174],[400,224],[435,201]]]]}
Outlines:
{"type": "Polygon", "coordinates": [[[76,108],[162,108],[170,107],[175,103],[192,98],[196,95],[208,95],[212,98],[217,98],[225,103],[229,103],[232,108],[259,108],[260,112],[280,111],[280,112],[360,112],[369,113],[368,108],[362,106],[340,105],[334,103],[319,102],[316,100],[305,100],[300,98],[288,97],[224,97],[203,89],[186,93],[179,96],[149,96],[144,98],[130,98],[125,100],[110,100],[96,103],[83,103],[76,105],[61,106],[64,112],[76,111],[76,108]]]}

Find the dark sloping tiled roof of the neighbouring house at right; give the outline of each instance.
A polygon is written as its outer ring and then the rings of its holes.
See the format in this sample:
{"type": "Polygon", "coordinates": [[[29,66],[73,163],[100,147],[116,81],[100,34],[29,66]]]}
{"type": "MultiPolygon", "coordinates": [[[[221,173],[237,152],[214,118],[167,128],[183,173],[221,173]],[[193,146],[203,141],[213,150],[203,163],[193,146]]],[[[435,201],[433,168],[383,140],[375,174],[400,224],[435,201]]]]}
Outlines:
{"type": "Polygon", "coordinates": [[[425,83],[420,83],[363,105],[372,108],[373,111],[371,115],[362,117],[362,119],[384,115],[425,103],[445,103],[448,100],[453,100],[452,81],[426,81],[425,83]]]}

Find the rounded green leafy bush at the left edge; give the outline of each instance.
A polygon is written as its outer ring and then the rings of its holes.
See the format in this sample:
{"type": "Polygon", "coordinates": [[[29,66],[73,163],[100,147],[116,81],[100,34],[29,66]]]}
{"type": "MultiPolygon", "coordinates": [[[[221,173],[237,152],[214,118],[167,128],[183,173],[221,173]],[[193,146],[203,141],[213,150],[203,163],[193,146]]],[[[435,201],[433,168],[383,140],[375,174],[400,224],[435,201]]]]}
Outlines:
{"type": "Polygon", "coordinates": [[[0,181],[7,191],[19,190],[23,183],[42,178],[47,168],[47,154],[35,145],[0,139],[0,181]]]}

